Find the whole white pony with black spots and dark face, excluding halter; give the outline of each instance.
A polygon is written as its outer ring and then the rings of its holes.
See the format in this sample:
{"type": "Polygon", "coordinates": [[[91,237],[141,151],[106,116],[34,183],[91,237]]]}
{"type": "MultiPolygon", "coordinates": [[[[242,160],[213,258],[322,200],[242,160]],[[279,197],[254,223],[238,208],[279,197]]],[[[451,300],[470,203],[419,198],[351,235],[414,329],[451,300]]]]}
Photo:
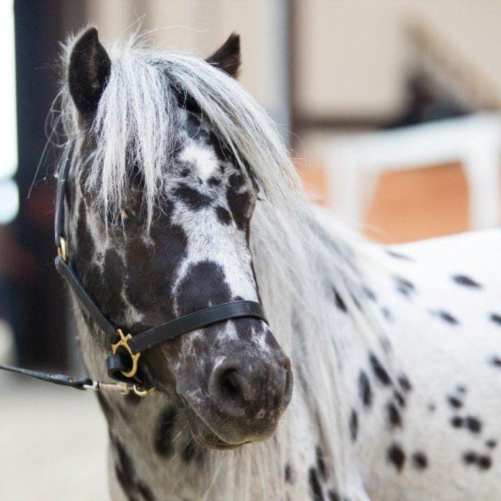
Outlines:
{"type": "Polygon", "coordinates": [[[61,61],[67,256],[106,318],[244,299],[269,320],[146,351],[144,398],[98,394],[113,500],[501,499],[499,229],[381,246],[333,223],[237,81],[238,35],[204,60],[89,28],[61,61]]]}

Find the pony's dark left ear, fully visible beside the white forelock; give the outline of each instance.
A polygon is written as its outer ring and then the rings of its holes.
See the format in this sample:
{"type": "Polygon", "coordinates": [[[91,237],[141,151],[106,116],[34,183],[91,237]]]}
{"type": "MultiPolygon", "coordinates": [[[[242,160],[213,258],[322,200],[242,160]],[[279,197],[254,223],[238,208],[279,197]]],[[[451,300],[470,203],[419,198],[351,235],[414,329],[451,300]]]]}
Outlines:
{"type": "Polygon", "coordinates": [[[110,70],[111,59],[97,38],[97,29],[88,29],[73,47],[68,70],[70,94],[84,117],[97,110],[110,70]]]}

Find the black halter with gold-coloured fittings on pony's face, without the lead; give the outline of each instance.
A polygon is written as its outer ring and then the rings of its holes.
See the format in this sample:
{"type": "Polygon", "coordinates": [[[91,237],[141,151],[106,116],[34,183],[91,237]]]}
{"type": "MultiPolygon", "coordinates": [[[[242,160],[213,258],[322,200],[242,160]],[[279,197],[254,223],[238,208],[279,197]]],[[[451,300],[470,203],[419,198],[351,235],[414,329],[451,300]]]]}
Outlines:
{"type": "MultiPolygon", "coordinates": [[[[86,312],[93,318],[97,326],[102,329],[107,340],[111,343],[113,354],[106,358],[108,375],[118,381],[130,381],[137,379],[137,363],[141,353],[157,345],[173,340],[175,337],[196,331],[218,322],[235,319],[239,317],[255,317],[268,324],[264,309],[260,303],[255,301],[232,301],[220,305],[205,308],[197,312],[184,315],[162,324],[150,328],[148,331],[132,335],[125,335],[120,328],[113,326],[100,308],[88,294],[84,284],[77,273],[72,268],[67,257],[66,234],[65,234],[65,191],[67,177],[70,172],[74,142],[67,148],[66,157],[63,160],[63,167],[58,175],[58,186],[56,194],[56,246],[58,256],[56,257],[56,269],[65,278],[72,288],[86,312]]],[[[141,381],[138,381],[141,383],[141,381]]]]}

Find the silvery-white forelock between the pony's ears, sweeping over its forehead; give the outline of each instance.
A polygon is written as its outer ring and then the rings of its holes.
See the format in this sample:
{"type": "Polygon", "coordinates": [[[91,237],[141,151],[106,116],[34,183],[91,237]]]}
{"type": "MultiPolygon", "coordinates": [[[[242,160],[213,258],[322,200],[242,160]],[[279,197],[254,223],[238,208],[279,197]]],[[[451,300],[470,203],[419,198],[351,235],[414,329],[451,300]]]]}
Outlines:
{"type": "MultiPolygon", "coordinates": [[[[76,38],[65,47],[65,73],[76,38]]],[[[104,210],[120,208],[134,165],[151,223],[180,136],[178,96],[186,96],[200,108],[244,175],[256,180],[278,209],[301,218],[305,197],[299,176],[262,107],[235,79],[204,60],[147,49],[141,40],[132,36],[107,47],[111,74],[89,131],[95,149],[88,159],[86,186],[97,193],[104,210]]],[[[79,121],[65,81],[61,90],[65,132],[75,135],[79,121]]]]}

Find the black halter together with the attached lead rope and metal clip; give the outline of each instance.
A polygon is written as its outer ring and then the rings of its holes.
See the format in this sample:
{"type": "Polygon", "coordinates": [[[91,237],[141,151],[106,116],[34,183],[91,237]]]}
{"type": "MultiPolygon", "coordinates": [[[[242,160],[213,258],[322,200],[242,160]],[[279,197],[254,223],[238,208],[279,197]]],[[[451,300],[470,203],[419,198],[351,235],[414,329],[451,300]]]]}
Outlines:
{"type": "Polygon", "coordinates": [[[180,337],[182,334],[196,331],[196,329],[225,320],[239,317],[255,317],[268,324],[264,308],[260,303],[242,300],[198,310],[135,335],[131,333],[125,335],[121,328],[114,326],[93,301],[84,284],[81,283],[76,271],[72,268],[68,257],[65,234],[65,191],[72,163],[73,150],[74,141],[66,148],[63,168],[61,168],[58,175],[55,219],[55,237],[58,250],[56,269],[66,280],[67,284],[70,285],[74,294],[78,297],[86,312],[88,312],[88,315],[90,315],[95,324],[106,335],[106,339],[111,344],[111,354],[106,358],[107,372],[112,379],[119,382],[103,383],[102,381],[93,381],[88,378],[76,379],[63,374],[47,374],[45,372],[35,372],[7,365],[0,365],[0,369],[35,377],[42,381],[71,386],[79,390],[120,390],[122,393],[134,391],[136,395],[143,397],[149,395],[154,390],[154,388],[145,388],[140,376],[141,371],[138,372],[138,360],[143,351],[156,347],[168,340],[173,340],[175,337],[180,337]]]}

